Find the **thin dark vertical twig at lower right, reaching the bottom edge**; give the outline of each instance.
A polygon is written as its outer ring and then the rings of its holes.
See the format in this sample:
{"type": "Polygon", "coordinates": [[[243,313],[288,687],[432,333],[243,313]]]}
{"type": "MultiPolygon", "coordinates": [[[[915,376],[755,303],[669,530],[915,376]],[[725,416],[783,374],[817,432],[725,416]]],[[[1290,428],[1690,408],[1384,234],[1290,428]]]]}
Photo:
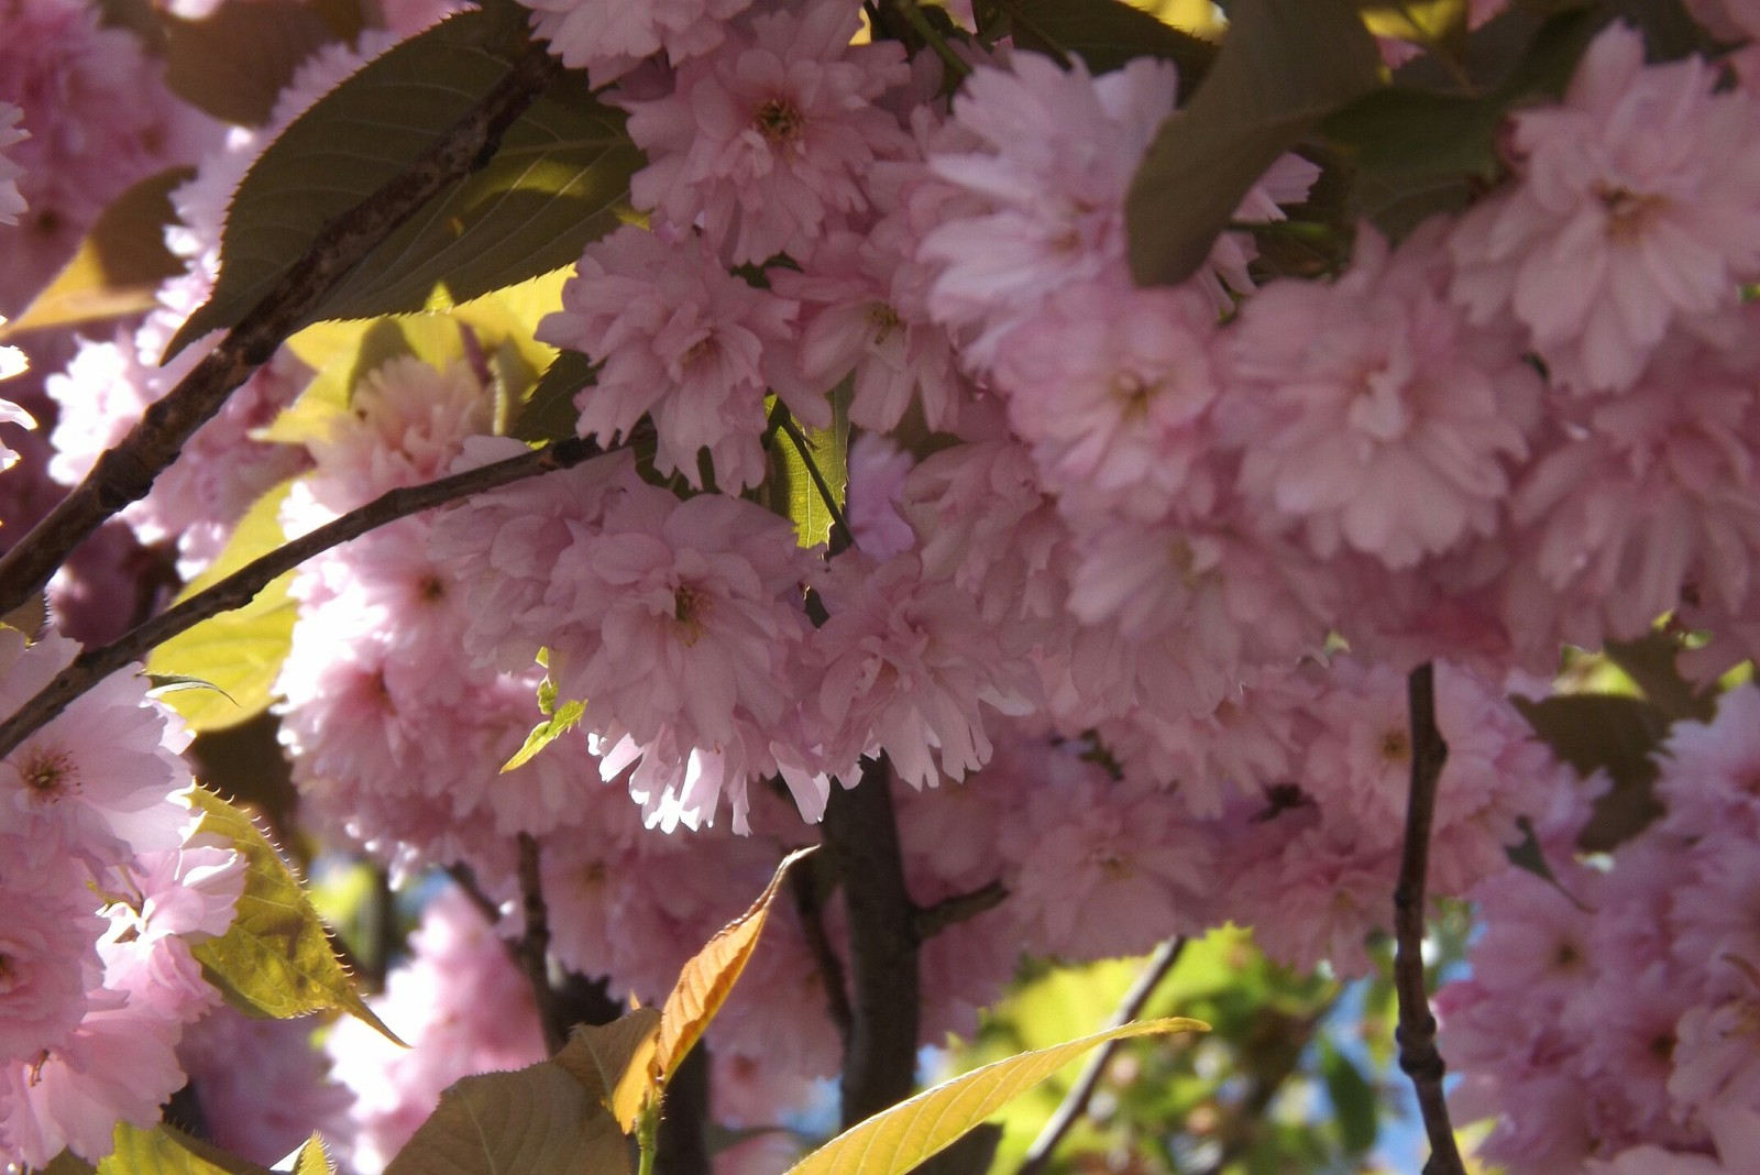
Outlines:
{"type": "Polygon", "coordinates": [[[1394,992],[1399,997],[1394,1040],[1399,1043],[1399,1068],[1417,1089],[1424,1131],[1429,1135],[1426,1175],[1464,1175],[1441,1091],[1445,1066],[1436,1050],[1436,1017],[1431,1015],[1424,989],[1424,881],[1429,872],[1436,785],[1448,762],[1448,744],[1436,726],[1436,672],[1429,661],[1412,670],[1406,704],[1412,711],[1412,797],[1406,802],[1406,843],[1394,888],[1394,992]]]}

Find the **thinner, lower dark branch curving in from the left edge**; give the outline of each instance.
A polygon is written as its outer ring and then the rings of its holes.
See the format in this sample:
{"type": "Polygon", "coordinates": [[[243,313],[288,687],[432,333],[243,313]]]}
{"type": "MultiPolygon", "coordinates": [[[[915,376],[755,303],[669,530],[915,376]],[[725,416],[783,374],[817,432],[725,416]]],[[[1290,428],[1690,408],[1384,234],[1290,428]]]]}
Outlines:
{"type": "Polygon", "coordinates": [[[468,498],[470,494],[537,477],[539,473],[567,470],[602,452],[593,442],[570,438],[507,457],[505,461],[380,494],[334,522],[326,522],[315,531],[276,547],[260,559],[246,563],[206,591],[199,591],[144,624],[137,624],[111,644],[81,653],[74,658],[72,665],[55,675],[55,681],[39,690],[18,712],[0,723],[0,756],[12,753],[19,742],[67,709],[81,693],[116,670],[139,661],[148,649],[171,640],[204,619],[245,607],[271,580],[294,570],[312,556],[345,544],[350,538],[359,538],[366,531],[405,515],[421,514],[447,501],[468,498]]]}

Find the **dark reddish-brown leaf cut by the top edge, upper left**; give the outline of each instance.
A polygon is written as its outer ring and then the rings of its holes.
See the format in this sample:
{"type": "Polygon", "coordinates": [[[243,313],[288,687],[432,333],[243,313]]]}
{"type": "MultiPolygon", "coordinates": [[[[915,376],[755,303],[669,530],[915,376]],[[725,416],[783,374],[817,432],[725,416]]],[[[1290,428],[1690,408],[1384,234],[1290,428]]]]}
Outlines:
{"type": "Polygon", "coordinates": [[[160,19],[165,84],[195,109],[241,127],[268,123],[294,70],[326,44],[354,40],[363,23],[357,7],[348,21],[340,5],[326,14],[306,0],[224,4],[199,21],[160,19]]]}

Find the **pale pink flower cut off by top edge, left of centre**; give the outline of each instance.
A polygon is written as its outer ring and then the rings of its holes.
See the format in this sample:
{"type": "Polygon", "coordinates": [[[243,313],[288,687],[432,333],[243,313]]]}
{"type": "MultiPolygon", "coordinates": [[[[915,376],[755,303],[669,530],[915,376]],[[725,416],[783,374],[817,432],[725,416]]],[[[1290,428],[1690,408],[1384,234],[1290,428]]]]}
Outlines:
{"type": "Polygon", "coordinates": [[[752,0],[524,0],[532,32],[551,42],[568,69],[584,69],[593,88],[609,84],[662,49],[674,65],[727,39],[727,21],[752,0]]]}

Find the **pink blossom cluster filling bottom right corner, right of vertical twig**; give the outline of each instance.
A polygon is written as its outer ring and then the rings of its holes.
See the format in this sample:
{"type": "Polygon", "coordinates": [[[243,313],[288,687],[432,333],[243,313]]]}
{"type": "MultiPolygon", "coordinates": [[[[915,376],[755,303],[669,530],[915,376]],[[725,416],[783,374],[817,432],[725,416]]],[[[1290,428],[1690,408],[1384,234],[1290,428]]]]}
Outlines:
{"type": "Polygon", "coordinates": [[[1558,883],[1477,892],[1471,978],[1438,994],[1464,1115],[1496,1115],[1510,1170],[1737,1171],[1760,1124],[1760,690],[1723,695],[1658,753],[1667,814],[1577,864],[1584,807],[1552,814],[1558,883]]]}

